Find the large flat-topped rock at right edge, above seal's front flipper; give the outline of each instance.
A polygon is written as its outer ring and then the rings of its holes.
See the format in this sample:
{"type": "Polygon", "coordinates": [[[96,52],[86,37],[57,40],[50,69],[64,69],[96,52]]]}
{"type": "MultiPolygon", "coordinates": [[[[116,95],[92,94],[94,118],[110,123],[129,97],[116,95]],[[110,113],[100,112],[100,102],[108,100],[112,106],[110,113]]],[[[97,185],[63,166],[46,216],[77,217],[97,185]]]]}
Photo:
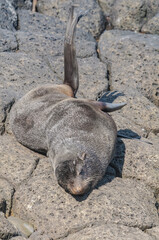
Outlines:
{"type": "Polygon", "coordinates": [[[133,88],[159,106],[159,36],[130,31],[105,31],[99,54],[110,64],[113,90],[133,88]]]}

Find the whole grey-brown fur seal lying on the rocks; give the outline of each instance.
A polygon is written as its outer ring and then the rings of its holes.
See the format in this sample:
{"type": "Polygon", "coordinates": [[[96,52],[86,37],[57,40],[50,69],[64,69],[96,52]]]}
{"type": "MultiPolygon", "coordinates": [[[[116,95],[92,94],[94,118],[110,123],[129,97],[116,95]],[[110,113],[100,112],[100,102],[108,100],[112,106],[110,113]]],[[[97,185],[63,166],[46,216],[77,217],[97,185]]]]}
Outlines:
{"type": "Polygon", "coordinates": [[[13,106],[10,124],[20,143],[47,152],[58,183],[71,194],[81,195],[103,177],[113,157],[117,130],[106,112],[125,103],[75,98],[79,77],[74,35],[84,14],[74,17],[73,11],[72,7],[65,36],[64,83],[28,92],[13,106]]]}

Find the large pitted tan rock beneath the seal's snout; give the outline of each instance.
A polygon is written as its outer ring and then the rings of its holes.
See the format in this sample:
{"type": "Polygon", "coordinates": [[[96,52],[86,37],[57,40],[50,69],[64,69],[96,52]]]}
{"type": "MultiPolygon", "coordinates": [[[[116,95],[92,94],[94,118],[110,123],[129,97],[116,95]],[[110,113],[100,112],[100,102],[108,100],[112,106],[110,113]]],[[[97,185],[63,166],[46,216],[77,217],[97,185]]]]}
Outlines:
{"type": "Polygon", "coordinates": [[[144,183],[115,178],[75,199],[57,184],[44,160],[16,191],[13,212],[52,238],[107,221],[142,230],[159,224],[153,192],[144,183]]]}

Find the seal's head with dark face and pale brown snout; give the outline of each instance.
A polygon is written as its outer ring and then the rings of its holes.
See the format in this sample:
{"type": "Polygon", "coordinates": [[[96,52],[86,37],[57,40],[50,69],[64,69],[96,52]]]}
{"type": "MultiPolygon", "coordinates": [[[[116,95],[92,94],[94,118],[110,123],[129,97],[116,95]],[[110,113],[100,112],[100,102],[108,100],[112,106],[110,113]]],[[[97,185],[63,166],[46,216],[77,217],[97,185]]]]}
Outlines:
{"type": "Polygon", "coordinates": [[[87,159],[86,154],[76,160],[61,162],[55,169],[59,185],[73,195],[83,195],[102,177],[101,165],[97,163],[97,159],[87,159]]]}

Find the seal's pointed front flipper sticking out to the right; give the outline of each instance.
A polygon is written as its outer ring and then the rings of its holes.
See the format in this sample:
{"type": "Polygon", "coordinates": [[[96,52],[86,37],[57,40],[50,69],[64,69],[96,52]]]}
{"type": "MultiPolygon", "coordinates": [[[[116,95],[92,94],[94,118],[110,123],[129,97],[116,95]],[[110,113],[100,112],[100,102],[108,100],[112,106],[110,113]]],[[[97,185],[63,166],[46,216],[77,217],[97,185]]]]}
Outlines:
{"type": "Polygon", "coordinates": [[[96,102],[91,101],[91,104],[98,107],[100,110],[104,112],[114,112],[123,108],[126,103],[107,103],[107,102],[96,102]]]}

